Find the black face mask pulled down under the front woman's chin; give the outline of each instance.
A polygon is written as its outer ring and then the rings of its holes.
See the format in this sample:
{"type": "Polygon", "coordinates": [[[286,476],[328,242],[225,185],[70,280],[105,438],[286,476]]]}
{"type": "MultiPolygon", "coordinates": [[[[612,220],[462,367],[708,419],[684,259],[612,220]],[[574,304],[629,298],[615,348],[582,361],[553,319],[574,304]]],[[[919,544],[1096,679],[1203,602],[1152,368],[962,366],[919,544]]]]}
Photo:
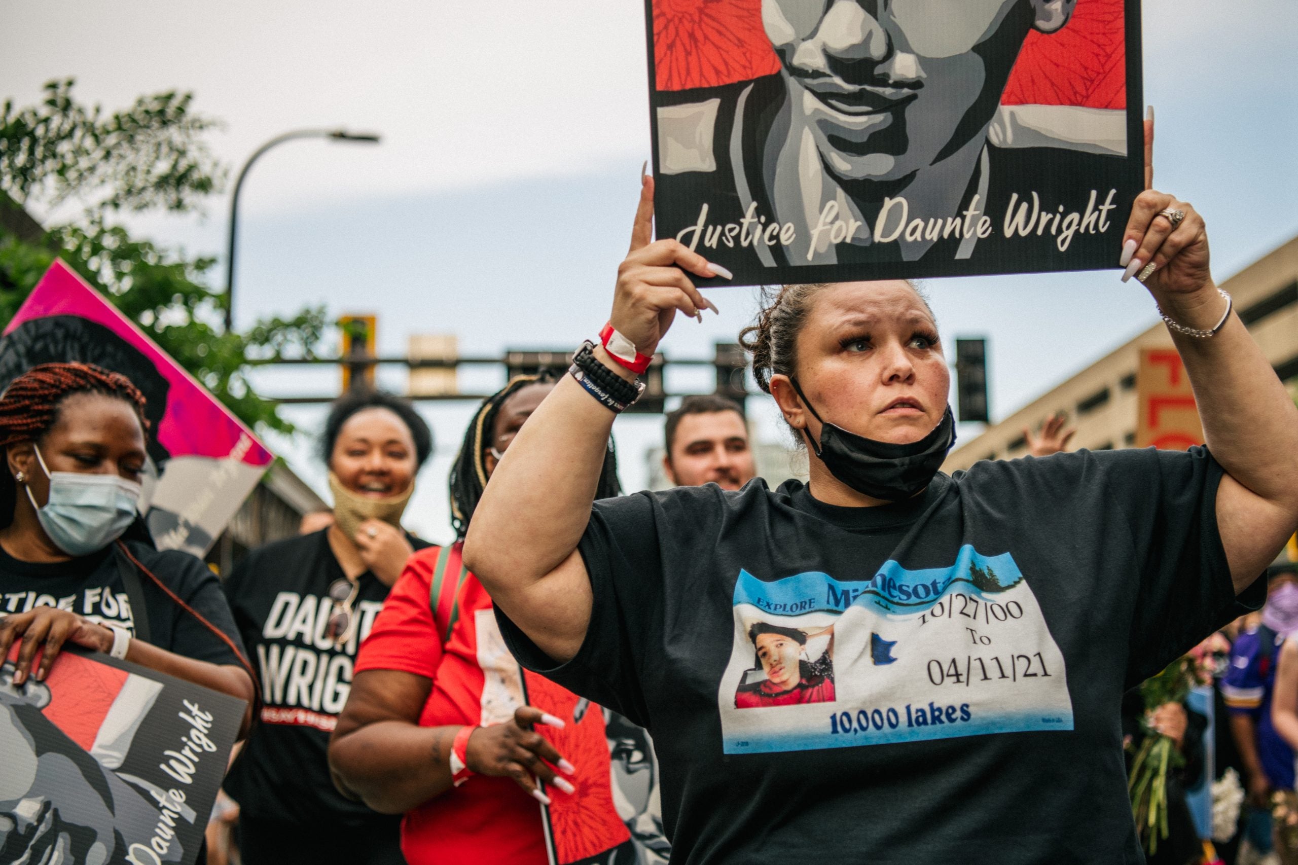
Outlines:
{"type": "MultiPolygon", "coordinates": [[[[829,474],[845,484],[884,501],[905,501],[927,487],[942,468],[946,453],[955,444],[955,417],[951,407],[932,432],[911,444],[875,442],[840,426],[826,423],[807,400],[796,379],[789,379],[793,390],[820,421],[820,445],[811,443],[815,455],[829,469],[829,474]]],[[[807,440],[811,435],[807,434],[807,440]]]]}

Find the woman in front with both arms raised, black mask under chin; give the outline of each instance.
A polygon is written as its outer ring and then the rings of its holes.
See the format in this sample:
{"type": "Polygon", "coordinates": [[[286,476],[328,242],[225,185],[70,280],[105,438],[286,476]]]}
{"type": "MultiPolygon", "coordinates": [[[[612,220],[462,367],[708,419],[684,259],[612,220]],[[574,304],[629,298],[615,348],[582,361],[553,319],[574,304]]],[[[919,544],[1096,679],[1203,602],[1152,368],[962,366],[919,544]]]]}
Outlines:
{"type": "Polygon", "coordinates": [[[809,484],[594,501],[637,370],[678,310],[711,307],[691,274],[719,273],[653,243],[652,213],[646,179],[604,344],[522,430],[465,543],[515,656],[649,727],[689,861],[1141,861],[1121,694],[1258,605],[1298,525],[1298,409],[1212,282],[1202,218],[1146,191],[1114,261],[1157,300],[1207,448],[949,477],[927,301],[787,286],[744,339],[809,484]],[[736,707],[767,681],[757,622],[833,626],[832,700],[736,707]]]}

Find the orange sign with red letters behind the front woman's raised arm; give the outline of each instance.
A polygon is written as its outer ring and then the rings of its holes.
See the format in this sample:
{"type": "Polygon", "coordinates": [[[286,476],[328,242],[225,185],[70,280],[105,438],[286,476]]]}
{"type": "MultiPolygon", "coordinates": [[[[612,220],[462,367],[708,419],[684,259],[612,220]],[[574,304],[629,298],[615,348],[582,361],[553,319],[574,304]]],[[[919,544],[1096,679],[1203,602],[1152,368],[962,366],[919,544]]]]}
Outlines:
{"type": "Polygon", "coordinates": [[[1188,451],[1203,444],[1203,426],[1185,364],[1175,348],[1142,348],[1136,373],[1136,447],[1188,451]]]}

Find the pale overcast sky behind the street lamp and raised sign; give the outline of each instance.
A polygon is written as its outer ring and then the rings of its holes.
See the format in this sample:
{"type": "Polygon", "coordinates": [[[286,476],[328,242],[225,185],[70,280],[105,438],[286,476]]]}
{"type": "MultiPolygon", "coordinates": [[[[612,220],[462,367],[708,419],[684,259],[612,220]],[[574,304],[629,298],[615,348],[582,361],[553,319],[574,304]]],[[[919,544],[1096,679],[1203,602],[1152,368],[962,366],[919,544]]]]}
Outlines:
{"type": "MultiPolygon", "coordinates": [[[[61,77],[109,109],[191,90],[199,110],[223,121],[210,140],[235,168],[291,129],[380,132],[378,147],[295,142],[258,161],[241,201],[239,322],[323,303],[376,312],[392,353],[417,332],[457,334],[465,353],[567,348],[607,318],[649,155],[643,10],[639,0],[5,0],[0,97],[29,104],[61,77]]],[[[1155,186],[1205,214],[1225,278],[1298,232],[1298,3],[1147,0],[1144,13],[1155,186]]],[[[206,219],[132,226],[223,255],[227,208],[214,197],[206,219]]],[[[929,288],[944,339],[990,339],[997,417],[1155,320],[1149,295],[1116,270],[929,288]]],[[[754,291],[715,290],[723,316],[679,322],[667,355],[710,356],[713,342],[733,340],[754,291]]],[[[398,370],[386,381],[404,387],[398,370]]],[[[324,394],[336,373],[273,374],[263,386],[324,394]]],[[[750,404],[771,417],[765,401],[750,404]]],[[[439,453],[410,525],[435,539],[447,536],[445,471],[470,410],[426,408],[439,453]]],[[[319,409],[289,414],[318,429],[319,409]]],[[[627,487],[643,486],[643,452],[661,423],[618,421],[627,487]]],[[[774,422],[766,430],[779,435],[774,422]]],[[[976,432],[962,430],[966,440],[976,432]]],[[[270,444],[324,488],[305,435],[270,444]]]]}

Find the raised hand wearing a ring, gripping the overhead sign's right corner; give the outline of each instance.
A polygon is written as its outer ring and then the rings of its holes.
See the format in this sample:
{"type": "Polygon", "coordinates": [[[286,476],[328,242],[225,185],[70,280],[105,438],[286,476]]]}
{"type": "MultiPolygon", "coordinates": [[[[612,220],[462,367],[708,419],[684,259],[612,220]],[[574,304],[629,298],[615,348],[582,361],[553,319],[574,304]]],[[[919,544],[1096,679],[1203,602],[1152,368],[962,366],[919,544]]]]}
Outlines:
{"type": "Polygon", "coordinates": [[[1136,197],[1119,264],[1127,268],[1123,282],[1136,277],[1159,300],[1214,288],[1203,217],[1193,205],[1157,190],[1136,197]],[[1164,210],[1180,210],[1185,218],[1173,229],[1164,210]]]}

